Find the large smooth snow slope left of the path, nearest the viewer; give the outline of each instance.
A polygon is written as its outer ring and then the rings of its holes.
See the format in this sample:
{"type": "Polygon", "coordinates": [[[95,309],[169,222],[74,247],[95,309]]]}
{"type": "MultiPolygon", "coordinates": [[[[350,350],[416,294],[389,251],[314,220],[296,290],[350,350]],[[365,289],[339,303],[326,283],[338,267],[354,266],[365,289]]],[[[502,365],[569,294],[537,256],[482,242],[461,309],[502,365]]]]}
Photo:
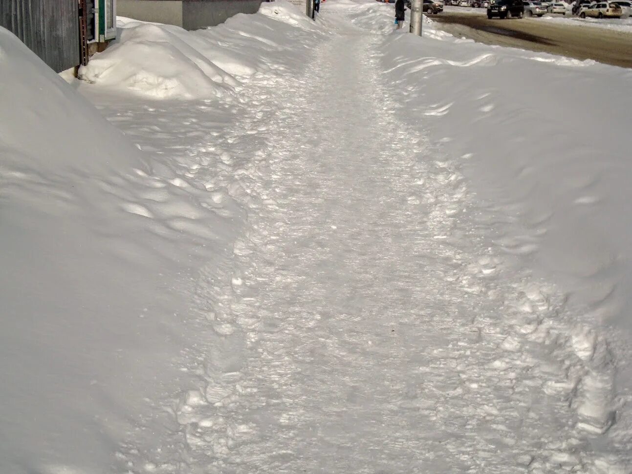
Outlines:
{"type": "Polygon", "coordinates": [[[174,275],[240,221],[3,28],[0,90],[0,472],[109,471],[143,398],[190,380],[174,275]]]}

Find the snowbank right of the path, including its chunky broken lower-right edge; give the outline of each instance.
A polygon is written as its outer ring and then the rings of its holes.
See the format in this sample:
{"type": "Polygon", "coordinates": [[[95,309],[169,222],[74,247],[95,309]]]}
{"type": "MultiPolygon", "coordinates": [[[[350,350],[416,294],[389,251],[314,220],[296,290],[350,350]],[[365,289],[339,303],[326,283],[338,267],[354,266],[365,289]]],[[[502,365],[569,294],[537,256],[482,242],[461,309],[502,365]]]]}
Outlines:
{"type": "MultiPolygon", "coordinates": [[[[390,19],[373,16],[352,18],[390,19]]],[[[483,245],[568,297],[559,317],[575,354],[566,363],[582,374],[570,406],[580,432],[601,434],[632,393],[632,71],[424,28],[422,39],[394,32],[379,47],[401,118],[469,179],[486,206],[477,222],[495,233],[483,245]]],[[[619,415],[609,435],[623,442],[629,408],[619,415]]]]}

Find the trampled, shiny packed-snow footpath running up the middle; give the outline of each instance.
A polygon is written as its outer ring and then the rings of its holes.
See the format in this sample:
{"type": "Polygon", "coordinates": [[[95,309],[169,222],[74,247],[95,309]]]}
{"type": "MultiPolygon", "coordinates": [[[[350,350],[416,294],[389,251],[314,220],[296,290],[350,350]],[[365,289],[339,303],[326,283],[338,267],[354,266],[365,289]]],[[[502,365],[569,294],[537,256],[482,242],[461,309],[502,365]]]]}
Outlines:
{"type": "Polygon", "coordinates": [[[339,25],[303,77],[248,85],[269,143],[241,173],[252,228],[197,286],[220,339],[174,412],[180,462],[146,469],[619,472],[593,442],[607,346],[504,276],[458,169],[398,121],[379,40],[339,25]]]}

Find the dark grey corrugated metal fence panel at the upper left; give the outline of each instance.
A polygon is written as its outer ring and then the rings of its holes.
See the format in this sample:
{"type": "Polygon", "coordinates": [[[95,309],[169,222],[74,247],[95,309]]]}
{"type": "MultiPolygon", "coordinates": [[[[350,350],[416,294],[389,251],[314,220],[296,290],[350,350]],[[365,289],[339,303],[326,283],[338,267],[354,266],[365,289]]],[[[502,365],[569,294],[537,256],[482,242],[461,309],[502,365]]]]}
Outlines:
{"type": "Polygon", "coordinates": [[[80,62],[78,11],[78,0],[0,0],[0,26],[61,72],[80,62]]]}

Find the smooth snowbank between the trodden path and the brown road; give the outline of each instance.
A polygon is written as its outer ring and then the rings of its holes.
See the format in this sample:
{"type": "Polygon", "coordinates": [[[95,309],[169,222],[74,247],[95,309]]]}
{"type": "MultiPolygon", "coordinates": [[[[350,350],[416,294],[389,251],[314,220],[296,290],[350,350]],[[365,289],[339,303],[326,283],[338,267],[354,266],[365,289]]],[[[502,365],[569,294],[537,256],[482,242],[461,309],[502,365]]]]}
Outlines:
{"type": "MultiPolygon", "coordinates": [[[[354,21],[388,31],[382,25],[389,14],[371,7],[354,21]]],[[[632,72],[456,39],[428,19],[424,28],[423,42],[389,37],[381,56],[388,80],[408,107],[420,110],[422,126],[434,140],[465,156],[463,166],[478,195],[517,216],[517,235],[499,243],[507,252],[537,260],[537,268],[554,272],[581,300],[595,302],[599,294],[611,301],[616,293],[619,302],[627,301],[632,72]],[[585,93],[599,83],[608,84],[602,94],[585,93]],[[593,135],[595,126],[601,131],[593,135]],[[626,284],[604,288],[604,271],[614,268],[626,284]]],[[[617,320],[626,313],[608,314],[617,320]]],[[[628,317],[621,322],[632,329],[628,317]]]]}

